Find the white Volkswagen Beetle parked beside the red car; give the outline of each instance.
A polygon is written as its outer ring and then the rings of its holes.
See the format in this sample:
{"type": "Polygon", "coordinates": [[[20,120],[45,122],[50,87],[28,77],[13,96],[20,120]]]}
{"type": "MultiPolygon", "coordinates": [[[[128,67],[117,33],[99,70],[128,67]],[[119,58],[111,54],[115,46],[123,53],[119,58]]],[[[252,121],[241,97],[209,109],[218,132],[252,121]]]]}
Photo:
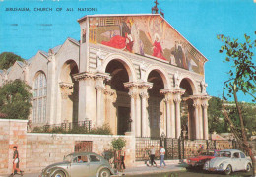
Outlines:
{"type": "Polygon", "coordinates": [[[234,171],[249,172],[252,167],[252,162],[249,157],[237,149],[221,150],[217,157],[207,161],[204,165],[204,170],[224,172],[230,174],[234,171]]]}

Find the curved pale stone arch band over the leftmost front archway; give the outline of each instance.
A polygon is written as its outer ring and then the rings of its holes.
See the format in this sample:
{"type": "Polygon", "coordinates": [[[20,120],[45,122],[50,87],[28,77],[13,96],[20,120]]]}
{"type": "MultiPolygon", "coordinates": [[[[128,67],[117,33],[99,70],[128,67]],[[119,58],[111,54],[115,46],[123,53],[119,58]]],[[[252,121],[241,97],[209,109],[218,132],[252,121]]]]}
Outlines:
{"type": "Polygon", "coordinates": [[[137,82],[136,72],[135,72],[135,69],[133,67],[131,60],[123,55],[120,55],[120,54],[109,54],[105,57],[105,59],[103,60],[103,64],[102,64],[102,70],[104,72],[106,70],[108,63],[110,63],[112,60],[117,60],[124,65],[128,75],[129,75],[129,82],[137,82]]]}

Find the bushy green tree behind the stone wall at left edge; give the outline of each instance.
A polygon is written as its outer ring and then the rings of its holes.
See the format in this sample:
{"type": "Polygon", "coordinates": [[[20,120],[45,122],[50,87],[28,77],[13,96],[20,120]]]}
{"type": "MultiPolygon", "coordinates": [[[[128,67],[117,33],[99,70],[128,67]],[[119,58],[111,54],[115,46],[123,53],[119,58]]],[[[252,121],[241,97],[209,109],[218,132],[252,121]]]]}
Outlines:
{"type": "Polygon", "coordinates": [[[31,87],[21,80],[8,82],[0,88],[0,112],[8,119],[28,119],[32,108],[31,87]]]}

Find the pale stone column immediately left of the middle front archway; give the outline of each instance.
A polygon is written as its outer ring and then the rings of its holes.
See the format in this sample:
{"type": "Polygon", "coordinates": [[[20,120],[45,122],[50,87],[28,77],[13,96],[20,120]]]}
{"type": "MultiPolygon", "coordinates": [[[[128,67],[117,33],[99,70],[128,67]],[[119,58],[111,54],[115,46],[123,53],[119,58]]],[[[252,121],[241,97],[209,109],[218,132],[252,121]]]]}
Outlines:
{"type": "Polygon", "coordinates": [[[147,106],[148,106],[148,89],[151,89],[153,86],[152,83],[143,83],[140,84],[139,87],[141,88],[140,96],[141,96],[141,135],[142,137],[149,137],[150,136],[150,122],[149,122],[149,116],[147,112],[147,106]]]}

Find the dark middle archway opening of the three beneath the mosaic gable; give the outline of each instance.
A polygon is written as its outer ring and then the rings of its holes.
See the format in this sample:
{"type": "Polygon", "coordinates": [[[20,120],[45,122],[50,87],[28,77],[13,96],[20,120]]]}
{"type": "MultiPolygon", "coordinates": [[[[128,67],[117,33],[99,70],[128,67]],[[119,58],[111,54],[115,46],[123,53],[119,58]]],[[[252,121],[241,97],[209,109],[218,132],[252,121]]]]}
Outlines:
{"type": "Polygon", "coordinates": [[[164,83],[160,73],[156,70],[150,72],[148,82],[153,83],[152,89],[149,89],[148,113],[150,123],[150,136],[160,137],[161,129],[164,127],[163,115],[164,104],[163,95],[160,89],[164,89],[164,83]],[[160,124],[162,123],[162,125],[160,124]]]}

